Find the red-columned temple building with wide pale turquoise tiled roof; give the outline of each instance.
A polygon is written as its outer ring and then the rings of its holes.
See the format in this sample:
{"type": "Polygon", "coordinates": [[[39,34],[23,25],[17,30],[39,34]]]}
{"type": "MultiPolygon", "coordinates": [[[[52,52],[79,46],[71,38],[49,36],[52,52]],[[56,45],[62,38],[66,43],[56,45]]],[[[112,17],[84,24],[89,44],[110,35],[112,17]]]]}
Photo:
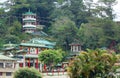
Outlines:
{"type": "Polygon", "coordinates": [[[38,60],[38,54],[45,49],[53,49],[56,43],[47,41],[41,38],[33,38],[27,42],[22,42],[20,44],[21,50],[26,50],[27,52],[19,54],[17,57],[21,59],[19,61],[20,67],[35,67],[41,70],[41,64],[38,60]]]}

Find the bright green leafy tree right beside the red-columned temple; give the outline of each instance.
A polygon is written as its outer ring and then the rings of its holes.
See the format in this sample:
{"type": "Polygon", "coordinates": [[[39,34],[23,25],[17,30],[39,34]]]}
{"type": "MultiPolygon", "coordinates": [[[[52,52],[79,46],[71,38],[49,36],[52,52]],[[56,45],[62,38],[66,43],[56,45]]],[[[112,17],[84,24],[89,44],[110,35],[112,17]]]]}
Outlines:
{"type": "Polygon", "coordinates": [[[60,63],[63,59],[62,50],[44,50],[39,54],[39,60],[49,66],[60,63]]]}

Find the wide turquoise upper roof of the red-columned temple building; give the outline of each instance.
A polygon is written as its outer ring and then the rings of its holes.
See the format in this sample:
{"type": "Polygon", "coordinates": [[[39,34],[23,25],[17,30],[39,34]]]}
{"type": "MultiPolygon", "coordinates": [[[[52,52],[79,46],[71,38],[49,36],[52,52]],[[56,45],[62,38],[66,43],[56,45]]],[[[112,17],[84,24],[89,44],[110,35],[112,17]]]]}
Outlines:
{"type": "Polygon", "coordinates": [[[33,47],[44,47],[44,48],[53,48],[55,46],[55,42],[50,42],[41,38],[33,38],[30,41],[21,43],[21,46],[33,46],[33,47]]]}

